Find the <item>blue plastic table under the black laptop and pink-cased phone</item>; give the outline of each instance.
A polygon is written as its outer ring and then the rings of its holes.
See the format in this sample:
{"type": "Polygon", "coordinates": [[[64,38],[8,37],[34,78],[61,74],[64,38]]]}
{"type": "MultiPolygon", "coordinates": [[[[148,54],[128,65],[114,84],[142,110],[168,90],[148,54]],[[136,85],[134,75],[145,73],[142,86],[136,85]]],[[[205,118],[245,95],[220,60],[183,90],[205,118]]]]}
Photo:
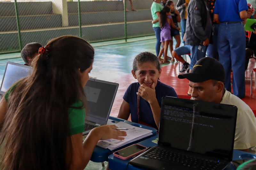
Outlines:
{"type": "MultiPolygon", "coordinates": [[[[155,140],[158,136],[152,136],[144,141],[139,142],[138,144],[141,144],[143,146],[147,146],[147,147],[153,147],[156,144],[152,142],[152,140],[155,140]]],[[[239,151],[234,149],[233,152],[233,160],[241,160],[243,158],[243,156],[247,157],[247,158],[256,158],[256,155],[248,153],[248,152],[243,152],[243,151],[239,151]]],[[[120,169],[126,169],[126,170],[141,170],[141,168],[132,166],[132,165],[128,165],[128,162],[131,159],[127,159],[127,160],[123,160],[123,159],[119,159],[114,157],[113,154],[108,156],[108,167],[111,170],[120,170],[120,169]],[[126,167],[127,166],[127,167],[126,167]]],[[[234,169],[233,166],[227,167],[227,170],[230,169],[234,169]]]]}

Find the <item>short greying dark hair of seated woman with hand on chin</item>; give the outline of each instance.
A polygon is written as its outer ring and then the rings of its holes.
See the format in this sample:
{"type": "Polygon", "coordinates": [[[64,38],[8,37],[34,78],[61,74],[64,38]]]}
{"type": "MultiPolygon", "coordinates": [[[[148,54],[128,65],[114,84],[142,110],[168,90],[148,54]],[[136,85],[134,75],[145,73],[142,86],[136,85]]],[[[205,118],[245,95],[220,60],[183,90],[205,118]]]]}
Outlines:
{"type": "Polygon", "coordinates": [[[133,60],[132,70],[135,72],[136,70],[138,70],[138,63],[146,63],[146,62],[155,63],[156,69],[160,71],[161,64],[159,63],[157,56],[150,52],[142,52],[136,55],[136,57],[133,60]]]}

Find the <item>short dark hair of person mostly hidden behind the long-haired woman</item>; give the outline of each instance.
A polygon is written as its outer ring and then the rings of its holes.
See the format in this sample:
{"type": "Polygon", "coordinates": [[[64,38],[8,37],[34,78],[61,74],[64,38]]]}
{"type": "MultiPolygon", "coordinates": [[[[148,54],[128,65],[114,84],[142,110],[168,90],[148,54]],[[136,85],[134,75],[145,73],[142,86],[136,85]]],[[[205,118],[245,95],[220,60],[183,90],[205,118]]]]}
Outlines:
{"type": "Polygon", "coordinates": [[[39,48],[42,47],[42,45],[38,42],[31,42],[25,45],[25,47],[21,50],[20,55],[23,59],[23,61],[28,64],[28,59],[35,57],[35,54],[38,53],[39,48]]]}

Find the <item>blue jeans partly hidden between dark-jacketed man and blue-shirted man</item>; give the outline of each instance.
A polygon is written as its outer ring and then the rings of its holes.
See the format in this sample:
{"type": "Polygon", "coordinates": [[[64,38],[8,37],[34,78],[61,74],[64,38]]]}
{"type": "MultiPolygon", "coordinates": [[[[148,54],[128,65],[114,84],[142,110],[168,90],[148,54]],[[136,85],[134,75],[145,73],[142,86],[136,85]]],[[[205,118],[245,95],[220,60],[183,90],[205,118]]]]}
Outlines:
{"type": "Polygon", "coordinates": [[[219,53],[217,48],[217,41],[218,41],[218,30],[219,30],[219,24],[214,24],[213,27],[213,43],[209,44],[207,48],[207,57],[215,58],[216,60],[219,60],[219,53]]]}

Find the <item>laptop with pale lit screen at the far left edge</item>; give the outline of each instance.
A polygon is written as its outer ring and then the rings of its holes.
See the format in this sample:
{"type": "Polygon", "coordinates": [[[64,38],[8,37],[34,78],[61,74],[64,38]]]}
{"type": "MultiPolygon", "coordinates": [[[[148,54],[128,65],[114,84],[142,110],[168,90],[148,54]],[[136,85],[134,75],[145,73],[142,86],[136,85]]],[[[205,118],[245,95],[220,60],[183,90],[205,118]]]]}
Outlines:
{"type": "Polygon", "coordinates": [[[0,98],[15,82],[27,77],[29,73],[30,66],[7,62],[0,87],[0,98]]]}

